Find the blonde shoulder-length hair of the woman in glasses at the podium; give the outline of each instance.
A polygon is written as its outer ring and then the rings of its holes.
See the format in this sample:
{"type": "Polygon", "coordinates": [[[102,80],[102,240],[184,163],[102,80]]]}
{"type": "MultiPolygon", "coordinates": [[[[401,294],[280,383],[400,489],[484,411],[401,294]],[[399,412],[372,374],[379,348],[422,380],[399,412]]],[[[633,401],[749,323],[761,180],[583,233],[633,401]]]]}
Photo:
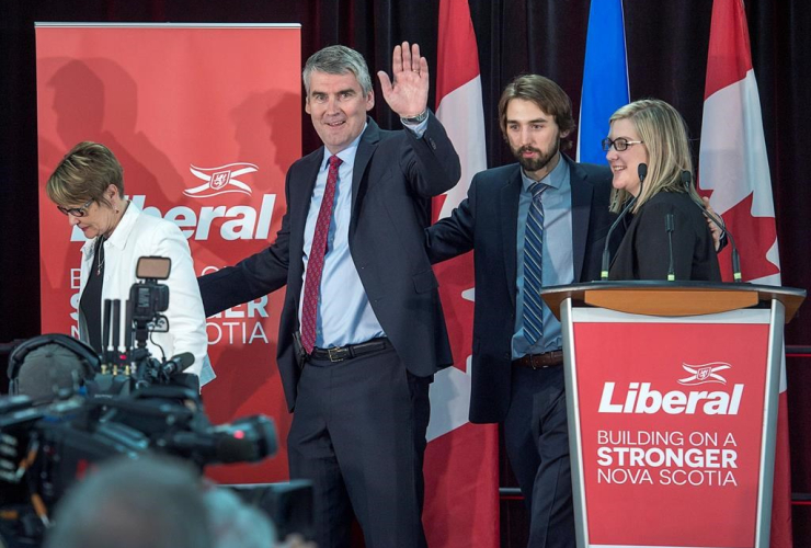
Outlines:
{"type": "MultiPolygon", "coordinates": [[[[659,99],[641,99],[615,112],[610,122],[628,119],[648,150],[648,175],[633,210],[660,192],[685,192],[682,171],[693,174],[687,124],[678,111],[659,99]]],[[[690,186],[690,194],[698,194],[690,186]]],[[[625,190],[612,192],[612,212],[619,212],[631,195],[625,190]]]]}

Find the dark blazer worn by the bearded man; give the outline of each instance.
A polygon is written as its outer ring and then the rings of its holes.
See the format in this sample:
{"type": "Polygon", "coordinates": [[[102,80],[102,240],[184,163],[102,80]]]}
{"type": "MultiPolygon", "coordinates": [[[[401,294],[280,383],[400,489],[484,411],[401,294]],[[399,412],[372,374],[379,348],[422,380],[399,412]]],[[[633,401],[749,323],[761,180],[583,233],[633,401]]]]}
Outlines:
{"type": "MultiPolygon", "coordinates": [[[[569,163],[572,187],[574,279],[598,279],[605,237],[615,218],[608,212],[612,174],[605,167],[561,158],[569,163]]],[[[483,171],[452,216],[426,230],[432,262],[476,250],[470,421],[477,423],[500,422],[510,407],[521,184],[517,163],[483,171]]]]}

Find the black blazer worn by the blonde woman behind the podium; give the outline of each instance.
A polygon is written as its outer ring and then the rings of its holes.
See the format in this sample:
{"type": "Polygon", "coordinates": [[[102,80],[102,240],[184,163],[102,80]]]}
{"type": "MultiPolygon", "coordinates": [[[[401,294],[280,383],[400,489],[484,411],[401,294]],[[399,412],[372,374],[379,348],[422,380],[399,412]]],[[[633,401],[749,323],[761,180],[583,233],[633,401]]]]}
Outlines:
{"type": "Polygon", "coordinates": [[[703,209],[686,193],[660,192],[646,202],[619,244],[609,279],[667,279],[670,243],[665,216],[672,214],[676,279],[720,282],[718,255],[703,209]]]}

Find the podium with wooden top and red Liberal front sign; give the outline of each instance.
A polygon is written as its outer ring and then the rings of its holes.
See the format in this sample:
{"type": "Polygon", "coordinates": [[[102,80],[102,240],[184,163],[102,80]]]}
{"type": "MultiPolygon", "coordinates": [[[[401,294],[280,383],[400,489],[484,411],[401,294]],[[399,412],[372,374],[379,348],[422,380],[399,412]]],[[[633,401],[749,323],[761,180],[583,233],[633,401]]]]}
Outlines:
{"type": "Polygon", "coordinates": [[[579,547],[767,547],[783,326],[806,292],[550,287],[579,547]]]}

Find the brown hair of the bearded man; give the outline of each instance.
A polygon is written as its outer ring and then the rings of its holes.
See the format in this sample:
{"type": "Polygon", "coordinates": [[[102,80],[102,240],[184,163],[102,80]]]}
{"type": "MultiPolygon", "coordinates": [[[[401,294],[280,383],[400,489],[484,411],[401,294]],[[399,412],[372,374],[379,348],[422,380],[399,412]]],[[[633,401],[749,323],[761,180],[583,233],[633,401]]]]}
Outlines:
{"type": "MultiPolygon", "coordinates": [[[[576,127],[572,116],[572,100],[560,85],[539,75],[522,75],[515,77],[504,88],[499,100],[499,125],[504,139],[507,138],[506,110],[513,99],[535,103],[541,111],[555,116],[555,123],[558,124],[561,135],[568,133],[571,136],[576,127]]],[[[571,146],[570,140],[561,138],[560,148],[562,150],[568,150],[571,146]]]]}

